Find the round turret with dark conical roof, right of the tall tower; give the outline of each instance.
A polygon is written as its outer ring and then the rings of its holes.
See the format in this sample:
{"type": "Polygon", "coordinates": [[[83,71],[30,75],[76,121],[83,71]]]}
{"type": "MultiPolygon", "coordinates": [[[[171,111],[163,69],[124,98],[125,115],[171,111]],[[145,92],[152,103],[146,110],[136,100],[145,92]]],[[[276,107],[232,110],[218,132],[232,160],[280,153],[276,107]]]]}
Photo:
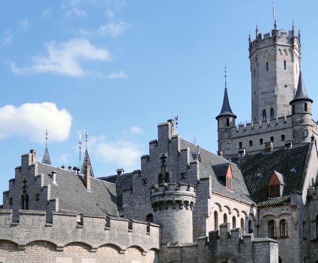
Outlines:
{"type": "Polygon", "coordinates": [[[298,86],[292,106],[293,118],[293,144],[309,143],[312,136],[312,119],[311,119],[311,98],[308,97],[305,90],[303,74],[300,72],[298,86]]]}

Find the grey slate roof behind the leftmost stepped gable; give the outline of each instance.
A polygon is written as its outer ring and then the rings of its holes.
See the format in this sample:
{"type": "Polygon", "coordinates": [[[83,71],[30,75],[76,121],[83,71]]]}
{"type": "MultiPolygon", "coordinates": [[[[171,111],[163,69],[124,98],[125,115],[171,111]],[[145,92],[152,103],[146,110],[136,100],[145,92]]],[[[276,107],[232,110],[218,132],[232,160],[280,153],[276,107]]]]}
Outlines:
{"type": "Polygon", "coordinates": [[[115,184],[90,178],[91,190],[84,185],[84,176],[65,169],[38,163],[38,174],[44,175],[44,185],[51,185],[51,199],[59,199],[58,209],[84,215],[118,216],[115,184]],[[56,184],[48,176],[56,171],[56,184]]]}

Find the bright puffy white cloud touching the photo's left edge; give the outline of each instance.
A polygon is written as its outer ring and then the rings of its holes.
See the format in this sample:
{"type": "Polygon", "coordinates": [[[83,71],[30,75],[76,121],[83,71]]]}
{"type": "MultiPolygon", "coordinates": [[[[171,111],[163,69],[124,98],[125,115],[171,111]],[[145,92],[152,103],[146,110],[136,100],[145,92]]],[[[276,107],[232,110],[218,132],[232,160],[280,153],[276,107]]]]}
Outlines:
{"type": "Polygon", "coordinates": [[[26,103],[16,108],[0,108],[0,140],[12,136],[26,137],[33,142],[45,141],[48,126],[50,141],[65,141],[69,137],[72,116],[53,103],[26,103]]]}

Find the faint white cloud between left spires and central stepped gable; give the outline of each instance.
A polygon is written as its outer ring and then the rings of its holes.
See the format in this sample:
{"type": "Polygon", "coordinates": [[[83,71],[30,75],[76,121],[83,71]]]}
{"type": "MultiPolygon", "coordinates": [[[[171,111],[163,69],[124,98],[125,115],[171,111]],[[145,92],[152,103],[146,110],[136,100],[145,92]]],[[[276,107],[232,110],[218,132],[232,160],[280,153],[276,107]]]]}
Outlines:
{"type": "Polygon", "coordinates": [[[140,165],[141,151],[139,146],[132,142],[108,143],[105,142],[105,136],[92,137],[89,141],[89,149],[98,160],[116,163],[118,167],[138,167],[140,165]]]}

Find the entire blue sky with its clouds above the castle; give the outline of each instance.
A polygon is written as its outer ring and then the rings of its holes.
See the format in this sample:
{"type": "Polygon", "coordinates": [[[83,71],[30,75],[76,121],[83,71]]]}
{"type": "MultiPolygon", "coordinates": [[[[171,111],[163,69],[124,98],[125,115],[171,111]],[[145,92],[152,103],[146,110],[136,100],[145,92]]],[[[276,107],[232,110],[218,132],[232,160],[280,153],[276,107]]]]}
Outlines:
{"type": "MultiPolygon", "coordinates": [[[[277,27],[301,29],[314,120],[316,10],[275,3],[277,27]]],[[[176,115],[183,139],[215,153],[225,64],[237,123],[250,120],[248,34],[273,27],[272,1],[1,1],[0,17],[2,191],[21,154],[42,159],[46,125],[57,167],[78,166],[87,128],[96,177],[140,169],[157,124],[176,115]]]]}

